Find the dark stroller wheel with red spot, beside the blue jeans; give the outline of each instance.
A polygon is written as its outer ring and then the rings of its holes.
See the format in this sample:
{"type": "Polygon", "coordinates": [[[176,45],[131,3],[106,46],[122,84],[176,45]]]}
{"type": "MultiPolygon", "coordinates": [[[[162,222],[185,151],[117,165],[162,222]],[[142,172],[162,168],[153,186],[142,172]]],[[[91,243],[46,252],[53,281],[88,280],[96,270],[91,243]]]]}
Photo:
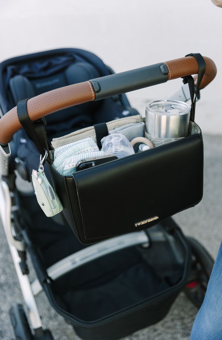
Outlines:
{"type": "Polygon", "coordinates": [[[187,237],[187,241],[191,248],[192,260],[184,291],[188,299],[200,308],[204,301],[214,260],[197,240],[187,237]]]}

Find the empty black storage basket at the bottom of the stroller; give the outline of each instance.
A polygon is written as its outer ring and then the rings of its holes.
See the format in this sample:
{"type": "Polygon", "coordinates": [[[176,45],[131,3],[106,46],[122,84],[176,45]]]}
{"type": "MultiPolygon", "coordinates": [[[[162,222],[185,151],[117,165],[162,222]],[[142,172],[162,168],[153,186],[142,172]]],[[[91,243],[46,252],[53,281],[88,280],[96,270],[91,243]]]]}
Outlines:
{"type": "Polygon", "coordinates": [[[190,250],[171,219],[148,236],[148,249],[115,252],[43,285],[53,308],[82,339],[119,339],[168,312],[186,282],[190,250]]]}

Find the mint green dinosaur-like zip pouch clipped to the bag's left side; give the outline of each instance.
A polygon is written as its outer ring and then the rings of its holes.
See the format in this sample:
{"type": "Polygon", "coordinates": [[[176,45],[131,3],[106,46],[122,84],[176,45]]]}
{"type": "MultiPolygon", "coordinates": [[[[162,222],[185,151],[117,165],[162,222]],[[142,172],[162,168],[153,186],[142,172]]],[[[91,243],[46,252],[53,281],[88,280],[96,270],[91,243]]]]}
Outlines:
{"type": "Polygon", "coordinates": [[[63,209],[62,203],[60,202],[57,193],[47,180],[42,168],[39,168],[38,171],[32,171],[32,183],[38,204],[45,212],[45,215],[47,217],[52,217],[59,214],[59,212],[63,209]]]}

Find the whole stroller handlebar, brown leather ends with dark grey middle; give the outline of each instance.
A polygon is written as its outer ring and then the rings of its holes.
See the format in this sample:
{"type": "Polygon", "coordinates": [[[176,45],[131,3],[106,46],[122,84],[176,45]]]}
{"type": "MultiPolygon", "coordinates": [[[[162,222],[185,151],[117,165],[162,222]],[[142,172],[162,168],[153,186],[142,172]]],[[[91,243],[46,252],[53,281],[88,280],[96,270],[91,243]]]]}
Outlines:
{"type": "MultiPolygon", "coordinates": [[[[204,60],[206,70],[200,88],[207,86],[217,74],[215,63],[208,57],[204,57],[204,60]]],[[[30,98],[27,102],[27,110],[30,119],[35,121],[70,106],[120,95],[197,73],[196,59],[188,56],[45,92],[30,98]]],[[[197,81],[197,76],[194,77],[194,81],[197,81]]],[[[15,106],[0,119],[0,145],[6,146],[21,128],[17,106],[15,106]]]]}

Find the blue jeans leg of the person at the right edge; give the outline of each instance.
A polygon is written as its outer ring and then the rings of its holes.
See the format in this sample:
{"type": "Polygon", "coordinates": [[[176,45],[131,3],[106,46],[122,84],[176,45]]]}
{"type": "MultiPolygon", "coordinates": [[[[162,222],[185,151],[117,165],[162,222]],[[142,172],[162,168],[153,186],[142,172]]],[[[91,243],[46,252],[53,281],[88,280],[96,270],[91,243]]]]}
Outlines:
{"type": "Polygon", "coordinates": [[[204,302],[193,323],[190,339],[222,339],[222,242],[209,279],[204,302]]]}

